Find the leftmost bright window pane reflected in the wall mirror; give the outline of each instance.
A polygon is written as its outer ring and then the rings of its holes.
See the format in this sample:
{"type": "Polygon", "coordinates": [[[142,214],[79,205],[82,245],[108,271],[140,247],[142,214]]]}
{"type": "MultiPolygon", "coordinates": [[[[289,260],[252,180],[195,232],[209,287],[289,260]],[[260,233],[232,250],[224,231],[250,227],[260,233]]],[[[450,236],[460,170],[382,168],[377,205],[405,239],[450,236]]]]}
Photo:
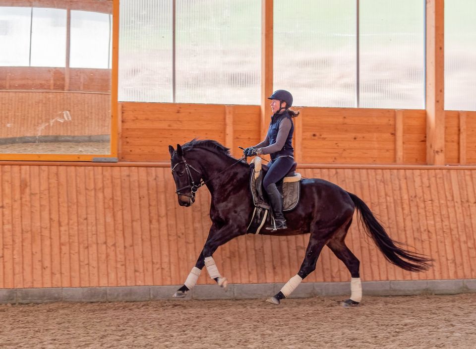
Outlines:
{"type": "Polygon", "coordinates": [[[0,7],[0,65],[30,64],[31,7],[0,7]]]}

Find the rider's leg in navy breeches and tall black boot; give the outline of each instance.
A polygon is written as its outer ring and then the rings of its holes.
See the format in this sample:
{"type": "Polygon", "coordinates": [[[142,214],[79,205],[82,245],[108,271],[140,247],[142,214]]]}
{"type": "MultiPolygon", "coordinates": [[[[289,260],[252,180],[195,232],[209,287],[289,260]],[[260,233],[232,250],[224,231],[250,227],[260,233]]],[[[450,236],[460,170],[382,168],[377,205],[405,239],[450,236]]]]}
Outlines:
{"type": "Polygon", "coordinates": [[[268,194],[271,209],[276,226],[266,227],[267,230],[286,229],[286,219],[283,215],[283,197],[276,187],[276,182],[281,180],[293,166],[294,159],[290,157],[278,158],[274,160],[263,179],[263,186],[268,194]]]}

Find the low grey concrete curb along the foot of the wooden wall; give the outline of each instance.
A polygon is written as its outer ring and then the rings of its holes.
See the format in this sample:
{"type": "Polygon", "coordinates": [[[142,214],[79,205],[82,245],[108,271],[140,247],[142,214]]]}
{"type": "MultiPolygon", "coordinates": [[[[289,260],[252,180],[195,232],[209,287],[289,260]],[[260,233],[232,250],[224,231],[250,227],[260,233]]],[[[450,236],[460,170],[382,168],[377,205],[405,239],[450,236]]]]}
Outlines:
{"type": "MultiPolygon", "coordinates": [[[[184,299],[253,299],[276,294],[284,284],[237,284],[224,292],[217,285],[197,285],[184,299]]],[[[181,285],[180,285],[181,286],[181,285]]],[[[177,286],[125,286],[0,289],[0,303],[116,302],[173,299],[177,286]]],[[[363,295],[457,294],[476,292],[476,279],[362,282],[363,295]]],[[[350,283],[302,283],[290,298],[349,296],[350,283]]]]}

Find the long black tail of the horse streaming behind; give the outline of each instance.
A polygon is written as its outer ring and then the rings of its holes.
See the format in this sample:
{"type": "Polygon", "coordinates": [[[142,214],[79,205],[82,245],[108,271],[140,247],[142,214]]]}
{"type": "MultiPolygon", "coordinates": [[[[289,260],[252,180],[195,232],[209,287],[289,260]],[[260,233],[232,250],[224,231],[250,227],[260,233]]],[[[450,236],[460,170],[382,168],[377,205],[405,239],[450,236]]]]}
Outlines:
{"type": "Polygon", "coordinates": [[[366,228],[365,232],[373,239],[390,263],[411,272],[421,272],[431,267],[431,259],[419,253],[399,247],[398,245],[403,244],[392,240],[390,236],[388,236],[385,229],[374,217],[365,202],[357,195],[349,192],[348,194],[351,196],[352,201],[354,201],[357,211],[360,212],[360,221],[363,222],[366,228]]]}

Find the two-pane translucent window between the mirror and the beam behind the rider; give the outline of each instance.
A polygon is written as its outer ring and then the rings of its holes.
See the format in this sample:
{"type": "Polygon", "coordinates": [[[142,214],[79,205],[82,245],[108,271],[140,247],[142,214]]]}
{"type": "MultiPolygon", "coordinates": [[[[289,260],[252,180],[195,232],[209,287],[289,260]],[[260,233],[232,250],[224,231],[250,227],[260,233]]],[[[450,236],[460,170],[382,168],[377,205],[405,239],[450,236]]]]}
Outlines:
{"type": "Polygon", "coordinates": [[[261,1],[119,5],[120,101],[260,103],[261,1]]]}

